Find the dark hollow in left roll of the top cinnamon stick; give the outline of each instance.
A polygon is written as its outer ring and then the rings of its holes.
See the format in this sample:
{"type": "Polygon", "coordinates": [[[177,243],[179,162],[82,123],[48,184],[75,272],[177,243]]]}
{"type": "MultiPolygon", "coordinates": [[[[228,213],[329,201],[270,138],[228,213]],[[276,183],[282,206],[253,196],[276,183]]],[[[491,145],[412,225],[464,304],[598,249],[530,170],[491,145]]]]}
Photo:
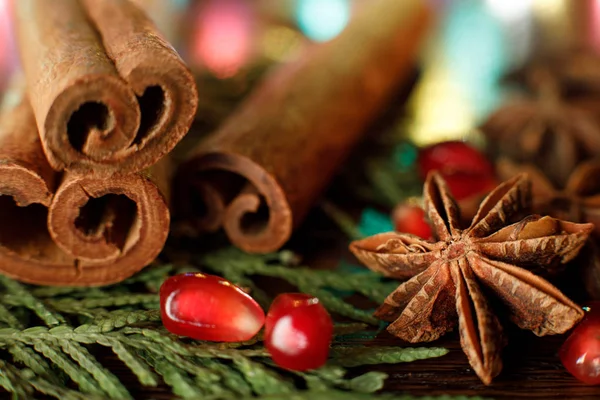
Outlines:
{"type": "Polygon", "coordinates": [[[75,150],[87,154],[88,142],[108,138],[114,127],[114,116],[105,104],[88,102],[71,115],[67,135],[75,150]]]}

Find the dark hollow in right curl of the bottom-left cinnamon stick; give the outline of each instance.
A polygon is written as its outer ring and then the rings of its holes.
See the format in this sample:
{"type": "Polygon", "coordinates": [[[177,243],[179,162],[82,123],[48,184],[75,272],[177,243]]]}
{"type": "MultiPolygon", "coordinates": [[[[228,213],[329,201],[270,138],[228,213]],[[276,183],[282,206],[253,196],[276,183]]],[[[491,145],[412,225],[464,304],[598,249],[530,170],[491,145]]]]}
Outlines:
{"type": "Polygon", "coordinates": [[[123,250],[136,216],[137,205],[125,195],[90,197],[79,210],[75,227],[89,240],[104,238],[107,243],[123,250]]]}

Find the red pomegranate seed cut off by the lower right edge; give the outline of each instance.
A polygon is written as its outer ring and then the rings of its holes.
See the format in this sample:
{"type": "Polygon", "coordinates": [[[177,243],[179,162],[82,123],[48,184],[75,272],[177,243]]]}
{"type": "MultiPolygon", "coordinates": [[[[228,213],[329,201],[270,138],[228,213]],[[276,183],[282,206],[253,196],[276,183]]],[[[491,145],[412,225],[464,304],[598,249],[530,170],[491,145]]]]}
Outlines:
{"type": "Polygon", "coordinates": [[[590,385],[600,384],[600,302],[586,313],[559,351],[565,368],[590,385]]]}

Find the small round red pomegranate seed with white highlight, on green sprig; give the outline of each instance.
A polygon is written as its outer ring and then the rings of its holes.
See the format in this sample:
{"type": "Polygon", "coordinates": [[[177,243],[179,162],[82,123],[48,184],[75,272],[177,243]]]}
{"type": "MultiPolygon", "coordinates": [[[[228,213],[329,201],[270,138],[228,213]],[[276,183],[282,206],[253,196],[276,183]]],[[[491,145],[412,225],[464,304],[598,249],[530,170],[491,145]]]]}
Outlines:
{"type": "Polygon", "coordinates": [[[283,368],[305,371],[329,355],[333,323],[319,299],[303,293],[277,296],[265,322],[265,346],[283,368]]]}

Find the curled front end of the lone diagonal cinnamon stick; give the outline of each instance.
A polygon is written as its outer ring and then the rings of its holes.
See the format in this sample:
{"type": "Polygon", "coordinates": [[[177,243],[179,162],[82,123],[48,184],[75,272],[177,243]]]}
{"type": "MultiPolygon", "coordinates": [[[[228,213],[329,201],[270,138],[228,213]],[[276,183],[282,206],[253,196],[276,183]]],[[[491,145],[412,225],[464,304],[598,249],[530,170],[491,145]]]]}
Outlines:
{"type": "Polygon", "coordinates": [[[277,180],[250,159],[207,153],[183,164],[176,177],[179,217],[200,232],[222,227],[250,253],[278,250],[292,233],[292,213],[277,180]]]}

